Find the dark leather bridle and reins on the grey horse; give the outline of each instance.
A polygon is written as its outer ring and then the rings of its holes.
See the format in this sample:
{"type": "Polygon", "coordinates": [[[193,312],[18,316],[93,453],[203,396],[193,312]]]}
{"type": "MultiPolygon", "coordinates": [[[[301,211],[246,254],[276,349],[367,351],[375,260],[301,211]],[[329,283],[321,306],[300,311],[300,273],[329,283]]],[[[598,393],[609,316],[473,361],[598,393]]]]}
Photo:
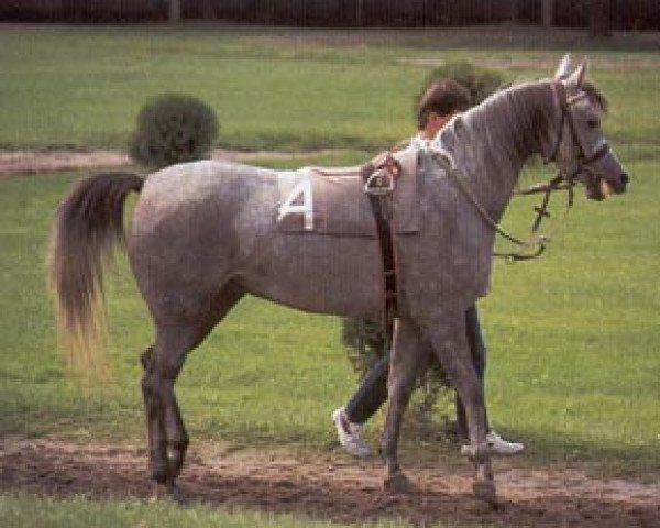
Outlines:
{"type": "MultiPolygon", "coordinates": [[[[517,196],[528,196],[534,194],[543,194],[543,198],[539,206],[534,208],[536,212],[536,217],[532,221],[530,235],[527,240],[521,240],[517,237],[514,237],[508,231],[503,229],[495,220],[491,218],[488,212],[484,209],[484,207],[479,202],[466,182],[463,179],[461,173],[454,167],[449,160],[447,160],[443,155],[438,153],[436,155],[436,160],[444,166],[447,173],[454,176],[455,182],[459,184],[459,187],[463,191],[463,194],[472,201],[475,206],[479,213],[482,216],[484,221],[501,237],[508,240],[509,242],[522,248],[522,251],[515,252],[494,252],[493,256],[501,256],[506,258],[508,262],[518,262],[518,261],[528,261],[531,258],[536,258],[540,256],[544,251],[548,242],[552,239],[549,234],[539,233],[541,223],[544,218],[550,217],[550,212],[548,211],[548,206],[550,204],[550,197],[553,191],[557,190],[566,190],[566,208],[562,216],[562,220],[568,217],[570,209],[573,207],[574,202],[574,189],[573,187],[576,185],[578,176],[582,173],[591,173],[593,169],[591,165],[609,152],[609,145],[605,140],[598,145],[597,148],[593,153],[588,153],[584,147],[584,142],[580,136],[578,131],[578,127],[575,124],[575,118],[573,117],[573,112],[571,110],[572,105],[582,100],[585,97],[588,97],[586,92],[579,94],[569,98],[566,92],[566,88],[561,79],[554,80],[552,82],[552,89],[557,100],[559,101],[560,107],[560,122],[559,129],[557,133],[557,140],[553,144],[553,147],[550,152],[550,155],[544,156],[544,163],[549,164],[552,162],[557,162],[557,157],[559,155],[559,150],[561,148],[561,144],[564,140],[564,130],[566,129],[571,134],[571,140],[573,142],[574,148],[576,151],[575,160],[578,162],[578,166],[574,170],[570,173],[565,173],[561,168],[558,170],[557,175],[548,183],[536,184],[528,189],[516,191],[517,196]]],[[[556,229],[556,231],[559,229],[556,229]]],[[[552,235],[554,232],[552,233],[552,235]]]]}

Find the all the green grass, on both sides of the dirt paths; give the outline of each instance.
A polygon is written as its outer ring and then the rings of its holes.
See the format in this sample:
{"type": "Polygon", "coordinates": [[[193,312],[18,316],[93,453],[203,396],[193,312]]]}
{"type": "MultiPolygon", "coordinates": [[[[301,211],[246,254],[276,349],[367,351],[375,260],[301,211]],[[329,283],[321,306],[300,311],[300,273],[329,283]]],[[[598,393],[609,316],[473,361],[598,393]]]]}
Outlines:
{"type": "MultiPolygon", "coordinates": [[[[590,50],[572,32],[539,41],[529,29],[521,31],[516,40],[496,30],[484,43],[472,30],[3,25],[0,144],[121,148],[147,97],[187,91],[217,110],[223,145],[349,148],[314,162],[265,165],[358,163],[410,135],[413,95],[428,64],[473,58],[508,65],[510,79],[529,79],[550,75],[564,50],[587,53],[594,78],[612,100],[606,130],[632,184],[626,196],[603,204],[580,197],[542,258],[496,264],[492,295],[481,304],[488,404],[497,429],[528,444],[516,459],[520,465],[573,464],[657,479],[660,58],[641,36],[590,50]],[[626,58],[638,67],[622,72],[626,58]]],[[[138,358],[152,329],[125,258],[107,277],[113,378],[86,392],[67,376],[56,350],[44,285],[47,229],[56,204],[80,176],[0,182],[0,435],[139,443],[144,419],[138,358]]],[[[548,172],[530,168],[525,179],[541,176],[548,172]]],[[[530,205],[517,200],[507,228],[522,232],[530,205]]],[[[339,330],[334,318],[242,301],[191,354],[177,384],[193,438],[334,449],[329,415],[355,384],[339,330]]],[[[404,449],[418,449],[418,441],[409,432],[404,449]]],[[[424,450],[447,454],[455,446],[424,450]]],[[[69,526],[70,505],[46,506],[50,518],[65,519],[54,526],[69,526]]],[[[103,507],[82,509],[91,517],[103,507]]],[[[125,507],[125,515],[142,515],[142,506],[125,507]]],[[[32,506],[3,498],[0,517],[15,508],[32,506]]],[[[201,526],[216,522],[209,519],[201,526]]]]}

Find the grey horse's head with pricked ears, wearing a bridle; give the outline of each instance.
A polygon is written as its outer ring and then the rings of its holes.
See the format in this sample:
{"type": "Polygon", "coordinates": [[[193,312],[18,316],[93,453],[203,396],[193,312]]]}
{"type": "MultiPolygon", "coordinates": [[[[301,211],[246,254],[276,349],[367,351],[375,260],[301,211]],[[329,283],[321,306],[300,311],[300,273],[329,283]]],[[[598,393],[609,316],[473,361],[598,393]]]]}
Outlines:
{"type": "Polygon", "coordinates": [[[625,193],[629,178],[603,133],[607,100],[586,80],[587,69],[583,61],[571,72],[568,55],[557,68],[552,86],[560,124],[548,161],[558,165],[565,180],[583,184],[587,198],[602,200],[625,193]]]}

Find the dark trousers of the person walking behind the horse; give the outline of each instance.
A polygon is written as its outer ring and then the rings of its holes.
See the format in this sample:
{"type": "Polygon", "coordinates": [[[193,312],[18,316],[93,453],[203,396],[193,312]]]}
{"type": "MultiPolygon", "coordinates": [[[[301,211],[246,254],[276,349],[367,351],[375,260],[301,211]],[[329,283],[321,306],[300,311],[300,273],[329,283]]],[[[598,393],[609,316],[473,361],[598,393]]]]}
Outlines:
{"type": "MultiPolygon", "coordinates": [[[[486,367],[486,349],[479,323],[479,314],[473,306],[465,312],[468,342],[472,352],[472,361],[476,373],[482,381],[486,367]]],[[[389,374],[389,354],[386,353],[374,363],[360,382],[358,391],[345,406],[346,417],[353,424],[366,422],[387,399],[387,375],[389,374]]],[[[463,404],[457,396],[457,422],[459,433],[466,437],[466,419],[463,404]]],[[[487,428],[487,419],[486,419],[487,428]]]]}

